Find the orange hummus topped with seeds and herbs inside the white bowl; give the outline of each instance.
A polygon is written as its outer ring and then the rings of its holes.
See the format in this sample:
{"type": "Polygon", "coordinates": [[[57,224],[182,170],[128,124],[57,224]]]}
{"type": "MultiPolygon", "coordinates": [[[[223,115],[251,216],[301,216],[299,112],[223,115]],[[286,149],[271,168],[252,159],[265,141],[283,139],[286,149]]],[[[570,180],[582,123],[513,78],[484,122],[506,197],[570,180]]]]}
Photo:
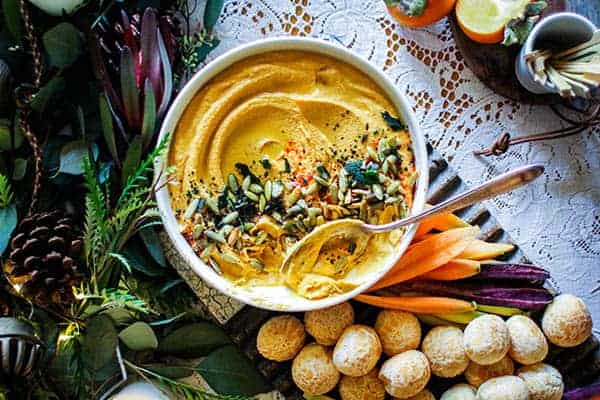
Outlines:
{"type": "Polygon", "coordinates": [[[286,285],[316,299],[361,283],[389,261],[403,231],[366,245],[332,238],[301,274],[286,251],[323,223],[385,223],[412,205],[416,178],[406,127],[370,78],[323,55],[283,51],[244,59],[190,102],[169,152],[182,233],[238,285],[286,285]]]}

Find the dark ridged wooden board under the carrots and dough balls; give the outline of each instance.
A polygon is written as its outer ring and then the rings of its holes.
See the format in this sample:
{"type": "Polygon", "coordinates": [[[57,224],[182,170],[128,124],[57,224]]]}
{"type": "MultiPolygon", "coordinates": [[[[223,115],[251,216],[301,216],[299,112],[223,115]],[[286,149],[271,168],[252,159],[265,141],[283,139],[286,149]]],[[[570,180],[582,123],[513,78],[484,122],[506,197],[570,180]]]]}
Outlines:
{"type": "MultiPolygon", "coordinates": [[[[430,190],[428,201],[438,203],[465,189],[465,185],[446,161],[428,146],[430,190]]],[[[481,227],[482,238],[488,241],[510,242],[508,234],[500,227],[490,213],[482,205],[474,205],[458,212],[462,218],[471,224],[481,227]]],[[[523,254],[517,249],[505,257],[506,260],[527,262],[523,254]]],[[[550,281],[550,285],[554,285],[550,281]]],[[[353,302],[356,322],[373,325],[378,310],[374,307],[353,302]]],[[[260,326],[269,318],[278,313],[245,306],[224,325],[234,343],[256,365],[258,370],[271,382],[273,388],[280,391],[286,398],[302,399],[302,393],[292,381],[290,368],[291,362],[278,363],[263,358],[256,350],[256,336],[260,326]]],[[[302,314],[297,315],[302,319],[302,314]]],[[[539,316],[538,316],[539,317],[539,316]]],[[[423,326],[425,328],[425,326],[423,326]]],[[[563,374],[567,388],[579,387],[590,383],[600,376],[600,344],[592,337],[587,342],[572,349],[552,348],[548,362],[557,367],[563,374]]],[[[457,379],[433,378],[430,389],[436,398],[449,386],[457,383],[457,379]]],[[[337,393],[329,394],[339,398],[337,393]]]]}

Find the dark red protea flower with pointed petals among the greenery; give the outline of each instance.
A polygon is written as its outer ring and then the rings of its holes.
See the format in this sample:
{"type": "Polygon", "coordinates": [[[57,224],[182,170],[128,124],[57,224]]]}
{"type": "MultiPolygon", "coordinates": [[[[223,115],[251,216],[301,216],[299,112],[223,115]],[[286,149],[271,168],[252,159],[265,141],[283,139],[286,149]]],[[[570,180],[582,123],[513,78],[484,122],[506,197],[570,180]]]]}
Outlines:
{"type": "MultiPolygon", "coordinates": [[[[129,17],[121,11],[113,27],[98,24],[92,57],[104,86],[100,98],[104,136],[118,165],[122,147],[146,150],[169,106],[173,92],[173,24],[147,8],[129,17]],[[114,125],[111,121],[114,120],[114,125]],[[115,138],[114,128],[121,133],[115,138]],[[121,142],[125,146],[119,146],[121,142]]],[[[139,153],[139,151],[138,151],[139,153]]]]}

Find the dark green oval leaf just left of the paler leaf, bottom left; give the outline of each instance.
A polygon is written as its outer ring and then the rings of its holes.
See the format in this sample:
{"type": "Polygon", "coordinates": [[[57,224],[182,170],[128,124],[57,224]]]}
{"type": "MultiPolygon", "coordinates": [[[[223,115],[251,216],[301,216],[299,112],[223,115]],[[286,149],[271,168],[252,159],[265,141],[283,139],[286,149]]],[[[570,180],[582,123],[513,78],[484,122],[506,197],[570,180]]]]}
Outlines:
{"type": "Polygon", "coordinates": [[[92,371],[99,371],[115,356],[118,342],[117,330],[108,315],[91,318],[81,343],[83,364],[92,371]]]}

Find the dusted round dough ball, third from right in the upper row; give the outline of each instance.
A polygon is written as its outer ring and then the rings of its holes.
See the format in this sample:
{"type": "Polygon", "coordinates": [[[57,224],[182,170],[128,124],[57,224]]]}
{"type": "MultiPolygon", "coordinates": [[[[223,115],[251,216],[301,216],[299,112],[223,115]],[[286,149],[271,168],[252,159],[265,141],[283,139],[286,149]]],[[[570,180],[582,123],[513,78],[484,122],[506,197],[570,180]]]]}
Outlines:
{"type": "Polygon", "coordinates": [[[488,314],[469,322],[463,342],[467,357],[477,364],[489,365],[508,353],[510,335],[502,318],[488,314]]]}

